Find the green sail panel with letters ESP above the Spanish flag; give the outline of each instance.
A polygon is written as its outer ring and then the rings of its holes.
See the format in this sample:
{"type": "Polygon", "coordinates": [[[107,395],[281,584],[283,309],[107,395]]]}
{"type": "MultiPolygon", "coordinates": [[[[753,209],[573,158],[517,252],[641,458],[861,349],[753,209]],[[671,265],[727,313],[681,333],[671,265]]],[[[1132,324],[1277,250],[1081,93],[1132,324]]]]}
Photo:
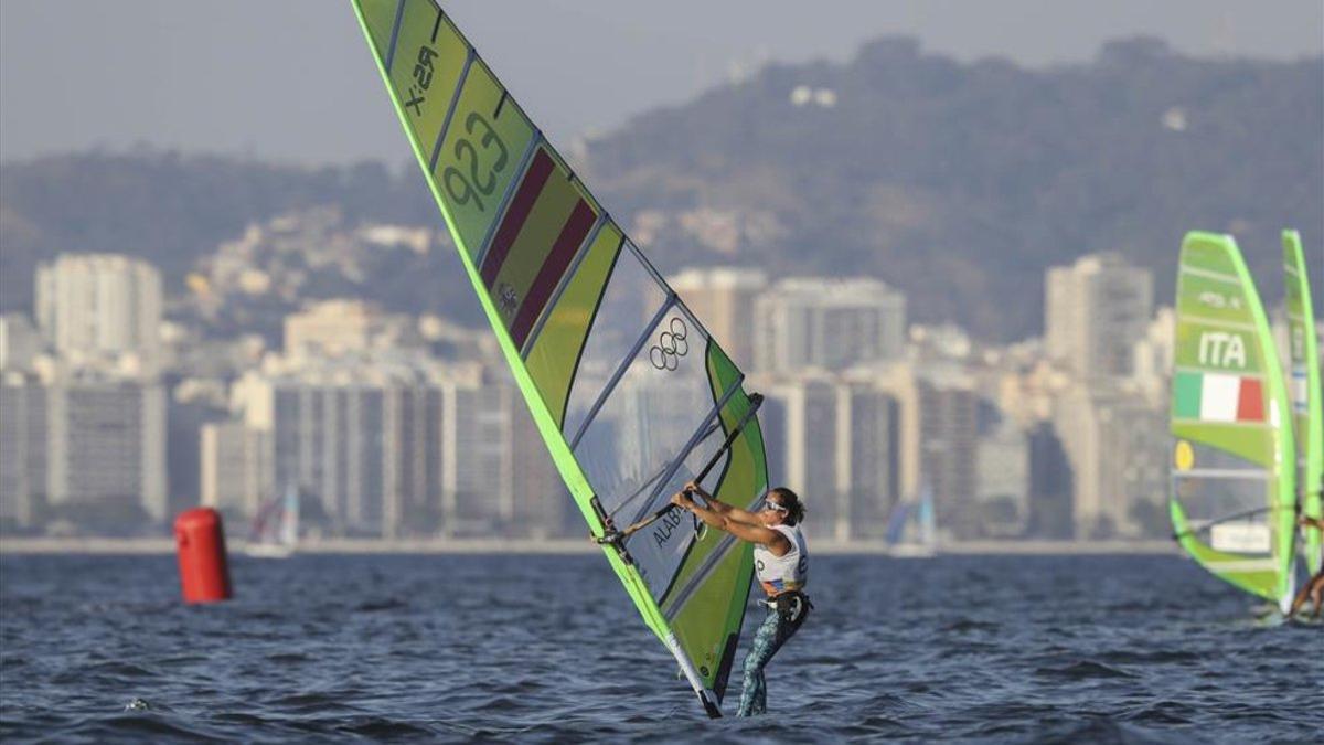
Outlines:
{"type": "Polygon", "coordinates": [[[446,134],[436,154],[428,151],[433,179],[470,258],[477,261],[482,253],[516,176],[527,176],[528,170],[520,174],[520,168],[534,139],[534,125],[487,65],[475,58],[446,134]]]}

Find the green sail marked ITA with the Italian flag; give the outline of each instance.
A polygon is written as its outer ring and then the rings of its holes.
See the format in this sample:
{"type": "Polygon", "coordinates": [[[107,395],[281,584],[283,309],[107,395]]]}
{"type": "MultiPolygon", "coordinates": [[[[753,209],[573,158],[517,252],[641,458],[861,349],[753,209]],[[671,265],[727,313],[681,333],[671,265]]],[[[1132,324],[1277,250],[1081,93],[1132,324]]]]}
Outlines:
{"type": "Polygon", "coordinates": [[[1286,612],[1296,536],[1287,390],[1259,293],[1231,236],[1186,235],[1176,323],[1174,536],[1210,573],[1286,612]]]}

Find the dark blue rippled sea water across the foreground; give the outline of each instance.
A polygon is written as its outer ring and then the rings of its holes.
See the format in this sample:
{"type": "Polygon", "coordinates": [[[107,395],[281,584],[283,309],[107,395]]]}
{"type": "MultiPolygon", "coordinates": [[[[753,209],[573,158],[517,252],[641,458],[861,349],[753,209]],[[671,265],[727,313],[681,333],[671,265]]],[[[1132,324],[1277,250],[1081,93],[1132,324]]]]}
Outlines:
{"type": "Polygon", "coordinates": [[[718,721],[601,557],[236,558],[232,573],[233,602],[184,607],[172,557],[0,557],[0,738],[1324,733],[1321,627],[1256,622],[1250,598],[1170,557],[816,558],[817,611],[769,667],[773,715],[718,721]]]}

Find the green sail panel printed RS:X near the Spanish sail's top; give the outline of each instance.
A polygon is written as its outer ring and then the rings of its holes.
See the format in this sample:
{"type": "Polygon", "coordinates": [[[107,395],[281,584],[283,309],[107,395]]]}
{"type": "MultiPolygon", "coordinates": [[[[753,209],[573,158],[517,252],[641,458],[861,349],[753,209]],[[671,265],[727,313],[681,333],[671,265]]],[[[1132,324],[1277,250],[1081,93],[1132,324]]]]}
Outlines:
{"type": "Polygon", "coordinates": [[[469,58],[469,45],[429,0],[406,0],[388,76],[418,150],[432,154],[469,58]]]}

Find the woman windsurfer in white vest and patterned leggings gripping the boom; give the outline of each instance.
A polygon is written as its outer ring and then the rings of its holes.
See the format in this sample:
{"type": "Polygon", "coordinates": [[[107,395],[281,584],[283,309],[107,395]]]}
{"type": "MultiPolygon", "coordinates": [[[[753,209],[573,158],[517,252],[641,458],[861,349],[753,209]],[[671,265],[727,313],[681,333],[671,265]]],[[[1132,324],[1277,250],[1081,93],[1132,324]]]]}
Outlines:
{"type": "Polygon", "coordinates": [[[744,660],[744,684],[736,716],[761,715],[767,712],[768,704],[763,669],[800,630],[813,607],[804,594],[809,578],[809,550],[800,532],[805,508],[794,492],[776,488],[764,497],[763,509],[748,512],[718,501],[694,481],[677,492],[671,504],[694,513],[708,526],[755,545],[755,571],[768,594],[763,601],[768,615],[755,632],[753,644],[744,660]]]}

